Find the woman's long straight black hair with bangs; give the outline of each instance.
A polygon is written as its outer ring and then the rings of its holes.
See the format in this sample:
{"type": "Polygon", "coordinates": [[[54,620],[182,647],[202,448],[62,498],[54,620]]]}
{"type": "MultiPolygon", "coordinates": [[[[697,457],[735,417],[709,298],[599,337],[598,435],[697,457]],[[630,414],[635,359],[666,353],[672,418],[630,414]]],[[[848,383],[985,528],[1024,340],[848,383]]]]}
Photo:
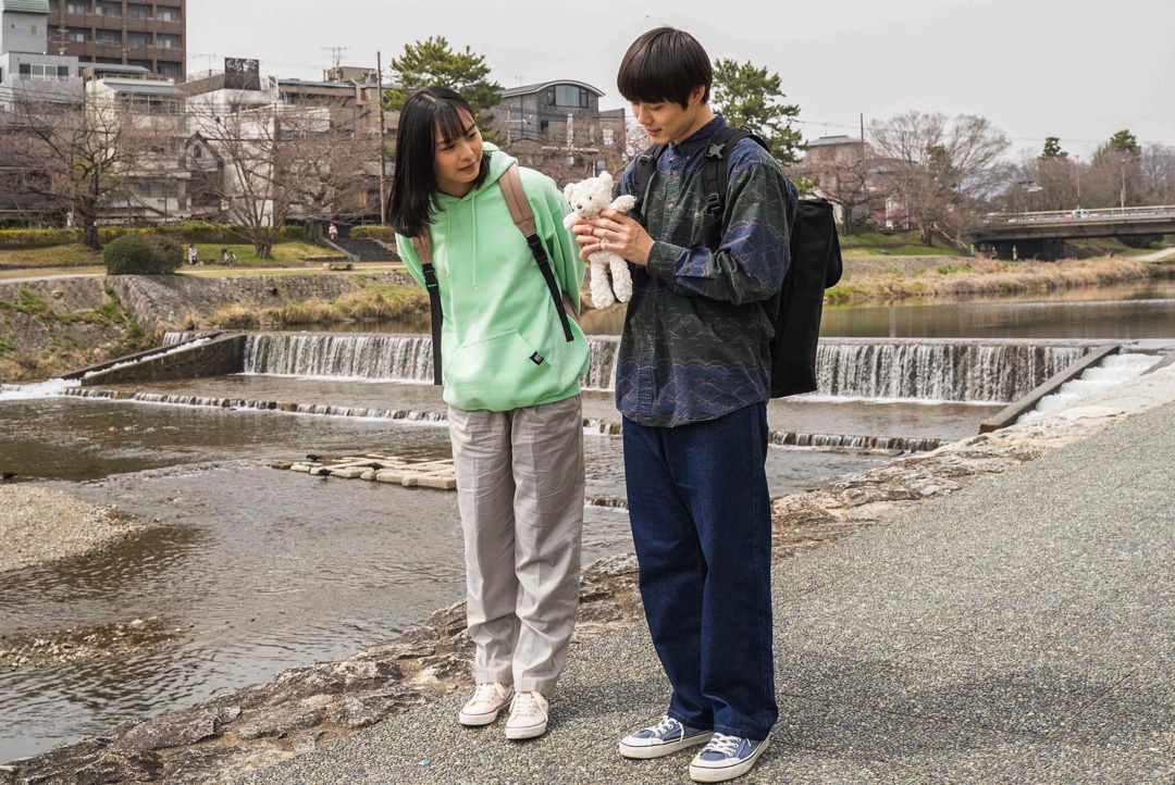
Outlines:
{"type": "MultiPolygon", "coordinates": [[[[437,129],[446,142],[451,142],[463,137],[476,119],[469,101],[448,87],[425,87],[408,96],[400,110],[395,174],[388,203],[388,223],[396,234],[404,237],[423,235],[432,223],[432,214],[441,209],[432,169],[437,129]]],[[[490,175],[489,156],[488,150],[482,154],[482,168],[474,188],[490,175]]]]}

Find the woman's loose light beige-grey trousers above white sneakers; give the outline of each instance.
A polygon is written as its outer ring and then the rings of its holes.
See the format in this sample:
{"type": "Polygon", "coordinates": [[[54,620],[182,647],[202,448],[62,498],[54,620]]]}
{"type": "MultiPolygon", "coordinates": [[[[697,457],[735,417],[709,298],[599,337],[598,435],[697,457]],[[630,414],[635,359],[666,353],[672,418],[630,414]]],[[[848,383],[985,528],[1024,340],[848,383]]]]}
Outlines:
{"type": "Polygon", "coordinates": [[[579,395],[510,412],[449,407],[465,533],[474,677],[550,695],[579,608],[579,395]]]}

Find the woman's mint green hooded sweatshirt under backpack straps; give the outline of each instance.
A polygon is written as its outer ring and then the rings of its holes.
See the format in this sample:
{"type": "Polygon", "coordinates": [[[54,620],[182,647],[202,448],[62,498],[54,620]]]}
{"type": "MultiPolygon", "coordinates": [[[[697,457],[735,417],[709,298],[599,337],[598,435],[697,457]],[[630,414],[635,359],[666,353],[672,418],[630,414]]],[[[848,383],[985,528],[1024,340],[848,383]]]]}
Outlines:
{"type": "MultiPolygon", "coordinates": [[[[566,341],[555,300],[513,224],[498,177],[515,160],[486,143],[490,175],[457,198],[439,195],[432,217],[432,265],[441,287],[441,361],[450,406],[505,412],[550,404],[579,392],[588,340],[573,320],[566,341]]],[[[535,225],[560,289],[578,309],[584,264],[563,216],[571,211],[546,175],[518,169],[535,225]]],[[[421,286],[411,239],[396,235],[400,257],[421,286]]]]}

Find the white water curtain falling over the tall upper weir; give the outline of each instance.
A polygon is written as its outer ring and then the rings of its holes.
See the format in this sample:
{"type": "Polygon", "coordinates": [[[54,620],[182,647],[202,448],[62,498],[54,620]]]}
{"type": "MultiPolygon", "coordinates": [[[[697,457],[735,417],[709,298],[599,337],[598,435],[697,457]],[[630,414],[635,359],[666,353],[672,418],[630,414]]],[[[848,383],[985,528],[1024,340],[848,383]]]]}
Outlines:
{"type": "MultiPolygon", "coordinates": [[[[168,336],[174,341],[175,334],[168,336]]],[[[619,338],[592,336],[583,385],[612,390],[619,338]]],[[[1066,368],[1092,340],[830,338],[817,357],[818,395],[959,402],[1010,402],[1066,368]]],[[[428,384],[429,336],[250,333],[244,372],[428,384]]]]}

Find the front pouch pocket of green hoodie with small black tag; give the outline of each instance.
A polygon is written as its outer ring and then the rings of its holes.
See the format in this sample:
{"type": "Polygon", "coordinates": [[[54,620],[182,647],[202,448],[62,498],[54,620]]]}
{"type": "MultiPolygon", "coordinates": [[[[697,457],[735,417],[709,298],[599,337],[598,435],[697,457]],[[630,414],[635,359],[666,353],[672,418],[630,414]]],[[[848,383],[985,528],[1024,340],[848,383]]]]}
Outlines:
{"type": "Polygon", "coordinates": [[[551,361],[517,330],[465,344],[444,368],[445,400],[465,410],[505,412],[559,392],[551,361]]]}

